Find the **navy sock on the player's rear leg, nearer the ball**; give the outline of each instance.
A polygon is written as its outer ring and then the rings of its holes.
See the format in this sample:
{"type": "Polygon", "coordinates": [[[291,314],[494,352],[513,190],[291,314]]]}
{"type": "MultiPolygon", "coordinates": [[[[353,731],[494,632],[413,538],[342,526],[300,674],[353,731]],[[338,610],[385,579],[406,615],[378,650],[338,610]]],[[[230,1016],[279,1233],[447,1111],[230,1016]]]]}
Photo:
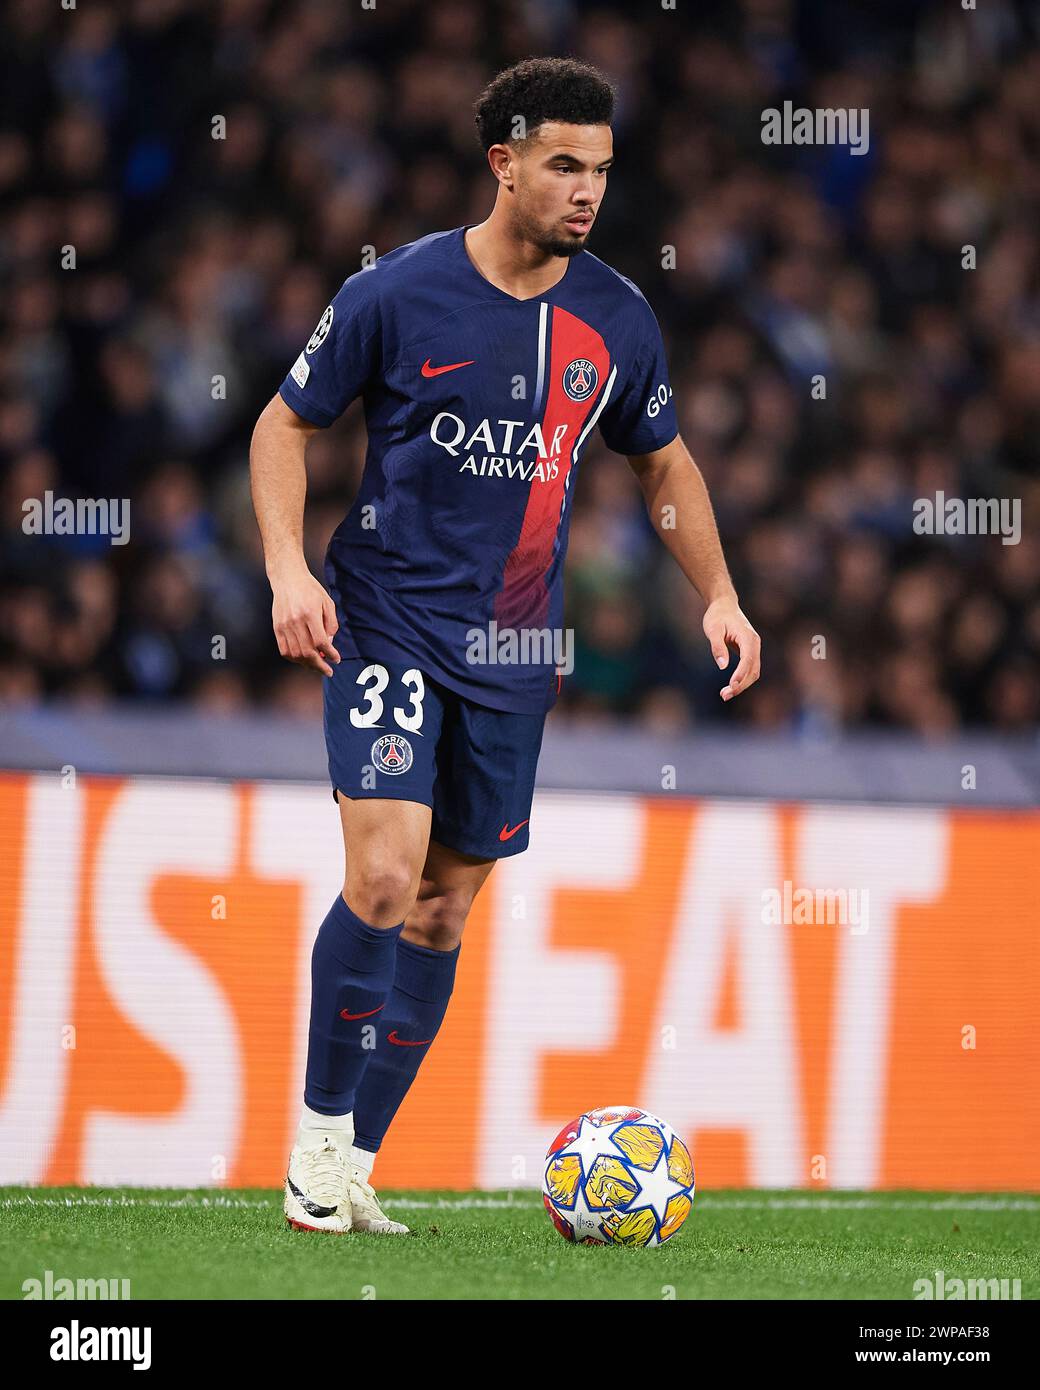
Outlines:
{"type": "Polygon", "coordinates": [[[375,1051],[355,1101],[355,1144],[375,1154],[416,1079],[448,1009],[459,951],[398,941],[393,988],[380,1015],[375,1051]]]}

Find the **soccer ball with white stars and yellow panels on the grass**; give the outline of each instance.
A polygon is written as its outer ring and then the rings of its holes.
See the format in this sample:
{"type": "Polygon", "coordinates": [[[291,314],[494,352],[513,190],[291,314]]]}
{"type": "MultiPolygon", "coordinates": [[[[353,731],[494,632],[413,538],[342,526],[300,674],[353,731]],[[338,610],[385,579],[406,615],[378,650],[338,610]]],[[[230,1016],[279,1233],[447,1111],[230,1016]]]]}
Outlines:
{"type": "Polygon", "coordinates": [[[542,1201],[566,1240],[662,1245],[694,1205],[694,1163],[655,1115],[630,1105],[588,1111],[549,1145],[542,1201]]]}

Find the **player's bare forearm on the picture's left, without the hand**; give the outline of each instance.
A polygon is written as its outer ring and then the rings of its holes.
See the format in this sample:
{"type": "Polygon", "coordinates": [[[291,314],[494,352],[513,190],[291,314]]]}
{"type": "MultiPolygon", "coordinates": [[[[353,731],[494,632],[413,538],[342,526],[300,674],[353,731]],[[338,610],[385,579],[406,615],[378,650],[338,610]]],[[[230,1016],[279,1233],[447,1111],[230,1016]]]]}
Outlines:
{"type": "MultiPolygon", "coordinates": [[[[278,398],[275,398],[278,399],[278,398]]],[[[284,414],[282,414],[284,411],[284,414]]],[[[249,484],[267,577],[306,569],[303,555],[303,505],[307,495],[304,456],[309,434],[285,418],[271,402],[253,430],[249,449],[249,484]]]]}

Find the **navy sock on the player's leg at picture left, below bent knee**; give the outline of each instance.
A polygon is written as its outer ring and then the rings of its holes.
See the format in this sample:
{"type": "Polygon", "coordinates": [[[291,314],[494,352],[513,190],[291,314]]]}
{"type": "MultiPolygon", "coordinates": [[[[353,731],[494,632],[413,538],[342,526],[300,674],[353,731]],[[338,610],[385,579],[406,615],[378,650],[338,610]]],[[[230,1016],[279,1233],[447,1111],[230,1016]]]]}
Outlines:
{"type": "MultiPolygon", "coordinates": [[[[368,1062],[393,984],[402,922],[373,927],[336,894],[310,956],[310,1041],[303,1099],[321,1115],[346,1115],[368,1062]],[[367,1044],[367,1047],[366,1047],[367,1044]]],[[[381,1031],[381,1030],[380,1030],[381,1031]]]]}

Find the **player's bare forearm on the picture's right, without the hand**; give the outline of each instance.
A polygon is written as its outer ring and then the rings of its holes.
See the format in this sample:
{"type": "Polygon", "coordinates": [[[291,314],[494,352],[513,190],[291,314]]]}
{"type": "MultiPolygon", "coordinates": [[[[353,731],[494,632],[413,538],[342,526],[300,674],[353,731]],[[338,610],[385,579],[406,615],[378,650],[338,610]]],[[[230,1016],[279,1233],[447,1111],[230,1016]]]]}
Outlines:
{"type": "Polygon", "coordinates": [[[701,470],[683,455],[640,475],[653,528],[705,603],[736,598],[701,470]]]}

